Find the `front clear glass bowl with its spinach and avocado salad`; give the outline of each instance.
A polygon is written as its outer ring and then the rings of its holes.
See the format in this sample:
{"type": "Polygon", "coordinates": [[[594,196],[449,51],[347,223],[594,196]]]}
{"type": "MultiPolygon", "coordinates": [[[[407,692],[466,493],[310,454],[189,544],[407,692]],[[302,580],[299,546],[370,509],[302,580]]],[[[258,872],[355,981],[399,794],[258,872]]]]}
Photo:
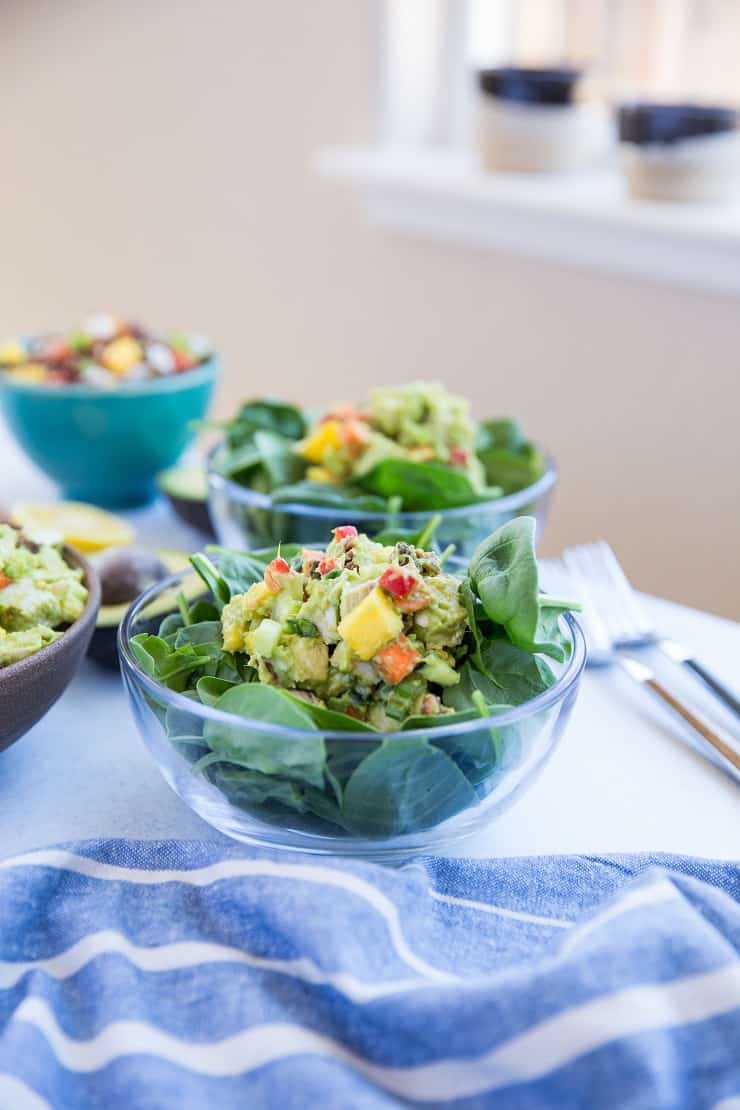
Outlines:
{"type": "Polygon", "coordinates": [[[469,566],[339,527],[323,548],[193,556],[119,633],[144,741],[227,836],[402,859],[480,830],[561,736],[586,659],[539,592],[534,521],[469,566]],[[200,593],[200,596],[197,596],[200,593]]]}

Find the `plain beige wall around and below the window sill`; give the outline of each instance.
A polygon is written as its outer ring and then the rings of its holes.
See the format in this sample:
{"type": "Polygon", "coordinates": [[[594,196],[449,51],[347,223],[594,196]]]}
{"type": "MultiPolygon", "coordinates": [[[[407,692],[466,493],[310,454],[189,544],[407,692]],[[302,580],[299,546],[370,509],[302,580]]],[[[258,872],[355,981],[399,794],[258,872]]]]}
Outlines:
{"type": "Polygon", "coordinates": [[[406,241],[312,178],[372,133],[368,0],[4,0],[0,331],[94,307],[221,345],[243,395],[418,376],[557,455],[548,549],[740,617],[738,302],[406,241]]]}

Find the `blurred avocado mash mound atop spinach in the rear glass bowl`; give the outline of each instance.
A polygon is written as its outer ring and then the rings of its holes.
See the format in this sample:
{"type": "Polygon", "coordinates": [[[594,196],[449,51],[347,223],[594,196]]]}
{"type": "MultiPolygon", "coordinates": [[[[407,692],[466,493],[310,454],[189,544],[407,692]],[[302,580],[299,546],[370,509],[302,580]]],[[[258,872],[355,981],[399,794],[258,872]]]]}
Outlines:
{"type": "Polygon", "coordinates": [[[486,477],[476,456],[470,404],[435,382],[371,390],[364,410],[330,410],[296,444],[314,482],[351,482],[386,458],[445,463],[466,474],[475,490],[486,477]]]}

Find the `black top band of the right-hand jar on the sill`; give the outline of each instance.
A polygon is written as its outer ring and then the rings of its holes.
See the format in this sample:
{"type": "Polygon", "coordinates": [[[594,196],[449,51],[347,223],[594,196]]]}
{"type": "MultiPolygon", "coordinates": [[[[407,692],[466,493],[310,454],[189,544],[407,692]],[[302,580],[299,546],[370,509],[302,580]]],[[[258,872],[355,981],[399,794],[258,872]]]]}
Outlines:
{"type": "Polygon", "coordinates": [[[617,115],[619,141],[645,147],[685,139],[724,134],[740,128],[740,111],[711,104],[621,104],[617,115]]]}

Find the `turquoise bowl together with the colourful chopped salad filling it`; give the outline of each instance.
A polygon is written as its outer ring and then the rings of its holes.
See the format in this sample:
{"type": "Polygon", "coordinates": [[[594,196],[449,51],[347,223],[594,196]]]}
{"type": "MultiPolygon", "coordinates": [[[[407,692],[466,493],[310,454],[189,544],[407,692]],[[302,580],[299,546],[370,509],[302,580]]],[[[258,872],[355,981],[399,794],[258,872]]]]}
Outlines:
{"type": "Polygon", "coordinates": [[[143,504],[207,412],[220,362],[201,336],[166,340],[109,315],[0,345],[0,407],[69,500],[143,504]]]}

